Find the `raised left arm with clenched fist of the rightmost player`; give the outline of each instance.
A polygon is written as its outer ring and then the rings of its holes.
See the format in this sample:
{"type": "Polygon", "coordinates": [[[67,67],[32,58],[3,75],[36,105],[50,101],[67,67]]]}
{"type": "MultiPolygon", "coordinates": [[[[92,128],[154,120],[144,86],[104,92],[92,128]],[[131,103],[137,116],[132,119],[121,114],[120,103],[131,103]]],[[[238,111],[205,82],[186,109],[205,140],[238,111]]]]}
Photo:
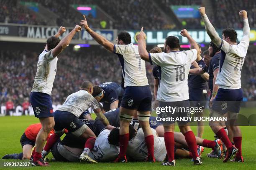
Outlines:
{"type": "Polygon", "coordinates": [[[199,10],[199,12],[200,12],[200,14],[202,16],[202,20],[205,23],[205,30],[206,30],[207,34],[211,38],[212,42],[217,47],[220,47],[220,45],[221,45],[221,38],[218,35],[218,32],[216,32],[215,28],[210,23],[210,20],[208,19],[207,15],[205,13],[205,7],[200,7],[198,10],[199,10]]]}

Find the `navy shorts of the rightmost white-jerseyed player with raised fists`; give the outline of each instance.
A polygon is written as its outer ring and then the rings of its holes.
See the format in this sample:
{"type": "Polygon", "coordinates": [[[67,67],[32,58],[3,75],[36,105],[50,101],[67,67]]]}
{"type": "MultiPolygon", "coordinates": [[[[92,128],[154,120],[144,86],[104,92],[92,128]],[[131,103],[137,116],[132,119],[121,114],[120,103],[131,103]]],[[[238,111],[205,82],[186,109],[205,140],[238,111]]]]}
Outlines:
{"type": "Polygon", "coordinates": [[[243,101],[242,89],[219,88],[212,102],[212,110],[225,114],[226,112],[239,113],[243,101]]]}

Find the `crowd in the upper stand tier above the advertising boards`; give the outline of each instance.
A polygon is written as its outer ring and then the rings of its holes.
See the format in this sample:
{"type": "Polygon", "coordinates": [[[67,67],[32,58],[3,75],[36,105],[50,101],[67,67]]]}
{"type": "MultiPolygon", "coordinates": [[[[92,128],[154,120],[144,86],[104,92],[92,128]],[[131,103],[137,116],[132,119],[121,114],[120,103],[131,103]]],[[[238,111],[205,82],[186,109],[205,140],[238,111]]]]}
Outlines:
{"type": "MultiPolygon", "coordinates": [[[[168,29],[168,23],[160,12],[171,10],[171,5],[197,5],[201,6],[202,0],[24,0],[26,2],[38,2],[59,18],[56,25],[60,26],[63,22],[65,26],[73,26],[82,19],[81,13],[74,9],[72,4],[97,5],[105,13],[114,19],[107,21],[106,28],[119,30],[139,30],[143,25],[147,30],[168,29]],[[161,4],[161,5],[159,5],[161,4]],[[159,7],[156,7],[159,6],[159,7]],[[67,25],[69,24],[69,25],[67,25]]],[[[44,25],[45,21],[38,19],[35,12],[19,4],[17,0],[0,0],[0,22],[2,23],[21,23],[44,25]]],[[[243,28],[243,22],[238,16],[239,10],[248,10],[248,19],[251,28],[256,27],[256,1],[255,0],[212,0],[213,15],[210,21],[216,28],[243,28]]],[[[88,15],[92,28],[101,28],[100,18],[92,18],[88,15]]],[[[179,18],[182,28],[203,29],[204,24],[201,18],[179,18]]],[[[175,27],[175,25],[174,25],[175,27]]]]}

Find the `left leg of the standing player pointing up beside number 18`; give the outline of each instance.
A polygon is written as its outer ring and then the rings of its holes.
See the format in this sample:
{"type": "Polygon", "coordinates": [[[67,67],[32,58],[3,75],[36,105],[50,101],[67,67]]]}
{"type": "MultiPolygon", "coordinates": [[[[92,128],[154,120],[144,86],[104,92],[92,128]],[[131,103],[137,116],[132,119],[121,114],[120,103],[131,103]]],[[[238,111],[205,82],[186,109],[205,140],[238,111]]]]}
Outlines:
{"type": "Polygon", "coordinates": [[[129,125],[133,118],[133,115],[137,113],[137,110],[126,109],[124,107],[120,107],[120,153],[118,158],[114,162],[127,162],[126,159],[126,150],[129,141],[129,125]]]}

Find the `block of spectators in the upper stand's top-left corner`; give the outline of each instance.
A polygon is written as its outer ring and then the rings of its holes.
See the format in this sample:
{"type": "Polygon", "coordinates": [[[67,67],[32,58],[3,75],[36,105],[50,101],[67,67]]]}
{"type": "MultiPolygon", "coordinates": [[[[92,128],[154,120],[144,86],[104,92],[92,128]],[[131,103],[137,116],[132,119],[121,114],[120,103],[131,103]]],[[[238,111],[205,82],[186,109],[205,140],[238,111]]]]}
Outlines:
{"type": "Polygon", "coordinates": [[[46,25],[36,13],[19,4],[17,0],[0,0],[0,23],[46,25]]]}

